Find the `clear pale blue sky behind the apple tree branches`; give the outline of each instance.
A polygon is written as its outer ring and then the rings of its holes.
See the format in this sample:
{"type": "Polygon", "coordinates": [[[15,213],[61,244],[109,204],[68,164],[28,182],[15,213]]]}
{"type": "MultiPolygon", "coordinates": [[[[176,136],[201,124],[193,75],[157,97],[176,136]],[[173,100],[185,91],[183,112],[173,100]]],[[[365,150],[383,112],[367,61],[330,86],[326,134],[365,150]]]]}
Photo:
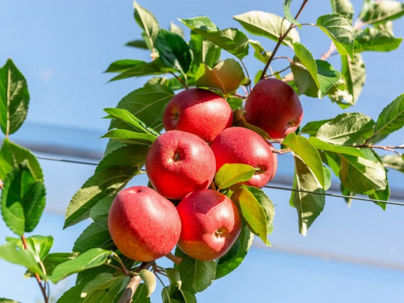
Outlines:
{"type": "MultiPolygon", "coordinates": [[[[281,0],[143,0],[139,3],[156,15],[162,27],[168,27],[176,18],[197,15],[209,16],[220,28],[239,27],[231,18],[233,15],[249,10],[283,13],[281,0]]],[[[292,11],[296,11],[298,3],[299,0],[293,1],[292,11]]],[[[353,3],[359,12],[362,1],[353,3]]],[[[315,22],[319,15],[330,12],[328,0],[310,0],[300,21],[315,22]]],[[[179,25],[178,21],[176,23],[179,25]]],[[[13,58],[28,80],[31,95],[27,123],[16,138],[67,147],[95,146],[96,150],[102,151],[105,141],[97,137],[105,133],[108,125],[108,121],[100,119],[104,116],[103,108],[114,107],[124,95],[146,81],[145,78],[130,78],[106,84],[112,74],[102,73],[118,59],[149,60],[147,52],[124,46],[127,41],[140,37],[140,29],[133,20],[131,1],[2,0],[0,28],[0,63],[13,58]]],[[[394,32],[396,36],[404,37],[404,19],[395,22],[394,32]]],[[[300,36],[301,42],[316,58],[328,49],[328,37],[317,28],[306,27],[300,36]]],[[[274,47],[271,40],[263,37],[259,40],[267,49],[274,47]]],[[[388,54],[364,54],[367,82],[357,106],[348,111],[363,112],[376,119],[383,107],[403,92],[403,49],[401,45],[388,54]]],[[[290,49],[283,46],[278,54],[291,56],[290,49]]],[[[230,56],[223,52],[222,57],[230,56]]],[[[330,62],[339,68],[337,57],[330,62]]],[[[263,67],[252,54],[245,63],[250,75],[263,67]]],[[[278,60],[273,67],[281,69],[284,66],[285,62],[278,60]]],[[[328,98],[318,100],[302,96],[301,102],[305,110],[303,123],[335,117],[343,112],[338,106],[331,105],[328,98]]],[[[402,144],[403,139],[404,131],[400,130],[386,143],[402,144]]],[[[291,173],[291,162],[287,157],[280,161],[280,170],[291,173]]],[[[45,161],[41,161],[41,165],[48,206],[36,232],[55,235],[54,252],[69,251],[88,222],[62,231],[61,212],[92,174],[93,168],[45,161]]],[[[402,188],[402,175],[391,176],[395,186],[402,188]]],[[[145,179],[141,177],[134,183],[144,184],[145,179]]],[[[289,193],[275,190],[267,193],[277,205],[275,232],[271,237],[274,248],[292,247],[404,265],[401,234],[404,209],[388,207],[383,213],[373,204],[357,202],[348,210],[341,199],[327,198],[323,214],[304,238],[297,233],[295,210],[288,206],[289,193]]],[[[12,235],[3,223],[0,223],[0,235],[12,235]]],[[[37,301],[35,281],[20,280],[21,268],[4,262],[0,262],[0,268],[0,296],[7,295],[28,303],[37,301]],[[12,274],[6,276],[4,273],[12,274]]],[[[66,284],[54,289],[63,287],[66,284]]],[[[154,296],[158,297],[159,293],[154,296]]],[[[301,257],[259,247],[251,250],[247,261],[233,275],[215,282],[206,293],[198,295],[199,302],[203,303],[248,300],[398,303],[402,297],[402,271],[301,257]]]]}

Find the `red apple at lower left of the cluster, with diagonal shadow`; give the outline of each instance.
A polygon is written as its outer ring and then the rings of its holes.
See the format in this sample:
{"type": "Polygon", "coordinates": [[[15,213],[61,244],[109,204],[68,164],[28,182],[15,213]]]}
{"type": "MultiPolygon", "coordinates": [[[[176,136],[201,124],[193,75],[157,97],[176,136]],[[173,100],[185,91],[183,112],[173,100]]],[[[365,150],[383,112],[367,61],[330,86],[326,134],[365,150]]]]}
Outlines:
{"type": "Polygon", "coordinates": [[[151,188],[133,186],[114,199],[108,228],[122,254],[148,262],[167,255],[175,247],[181,221],[168,199],[151,188]]]}

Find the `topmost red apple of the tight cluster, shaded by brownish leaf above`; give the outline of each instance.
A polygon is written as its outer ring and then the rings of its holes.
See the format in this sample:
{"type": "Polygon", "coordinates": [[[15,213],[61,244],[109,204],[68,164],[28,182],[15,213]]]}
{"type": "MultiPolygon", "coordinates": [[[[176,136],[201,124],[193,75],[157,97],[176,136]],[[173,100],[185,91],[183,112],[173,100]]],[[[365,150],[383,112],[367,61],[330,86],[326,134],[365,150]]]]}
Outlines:
{"type": "Polygon", "coordinates": [[[166,130],[182,130],[212,142],[233,122],[230,105],[218,94],[201,88],[185,89],[175,95],[163,115],[166,130]]]}

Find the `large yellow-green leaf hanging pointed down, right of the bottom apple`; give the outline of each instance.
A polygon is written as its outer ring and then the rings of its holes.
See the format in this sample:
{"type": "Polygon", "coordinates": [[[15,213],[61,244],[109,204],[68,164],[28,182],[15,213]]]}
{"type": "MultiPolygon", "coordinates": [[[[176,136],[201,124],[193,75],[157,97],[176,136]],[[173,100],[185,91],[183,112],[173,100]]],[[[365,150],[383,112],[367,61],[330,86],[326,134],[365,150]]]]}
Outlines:
{"type": "Polygon", "coordinates": [[[271,246],[268,235],[273,230],[275,209],[268,196],[259,188],[243,185],[231,199],[239,206],[249,230],[271,246]]]}

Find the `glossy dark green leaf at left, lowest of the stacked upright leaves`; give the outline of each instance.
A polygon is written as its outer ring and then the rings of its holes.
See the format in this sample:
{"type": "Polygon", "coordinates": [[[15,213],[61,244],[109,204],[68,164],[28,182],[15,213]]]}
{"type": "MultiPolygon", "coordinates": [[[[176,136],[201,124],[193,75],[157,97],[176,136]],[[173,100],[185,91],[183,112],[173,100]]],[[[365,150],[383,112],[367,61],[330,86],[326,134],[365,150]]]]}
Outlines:
{"type": "Polygon", "coordinates": [[[45,208],[45,186],[24,161],[4,180],[1,210],[5,223],[17,235],[33,231],[45,208]]]}

